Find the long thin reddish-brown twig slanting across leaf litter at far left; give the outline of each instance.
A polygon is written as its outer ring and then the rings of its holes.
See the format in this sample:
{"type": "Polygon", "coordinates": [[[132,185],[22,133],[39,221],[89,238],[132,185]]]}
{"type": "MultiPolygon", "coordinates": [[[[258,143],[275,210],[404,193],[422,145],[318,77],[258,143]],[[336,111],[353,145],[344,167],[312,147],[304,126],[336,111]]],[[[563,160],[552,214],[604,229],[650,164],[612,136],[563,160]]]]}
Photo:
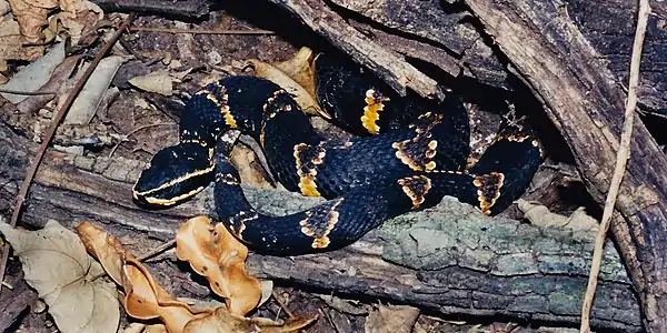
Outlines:
{"type": "MultiPolygon", "coordinates": [[[[39,149],[37,150],[37,155],[34,155],[34,158],[32,158],[32,161],[30,162],[30,168],[28,169],[28,172],[26,173],[23,183],[21,183],[21,188],[19,189],[19,193],[17,194],[17,202],[13,206],[13,212],[11,214],[11,221],[10,221],[11,226],[17,225],[17,221],[19,220],[19,216],[21,215],[21,209],[23,206],[23,201],[26,200],[26,195],[28,194],[28,190],[30,189],[30,184],[32,183],[32,179],[34,178],[34,174],[37,173],[37,169],[39,168],[39,164],[40,164],[42,158],[44,157],[44,153],[47,152],[47,147],[53,139],[53,134],[56,134],[56,130],[58,129],[58,125],[60,124],[60,122],[62,121],[64,115],[67,114],[67,110],[69,109],[69,107],[72,104],[72,102],[77,98],[77,94],[79,93],[79,91],[81,91],[81,89],[86,84],[86,81],[88,80],[88,78],[90,78],[90,75],[92,74],[92,71],[94,71],[94,68],[97,67],[97,64],[102,60],[104,54],[111,49],[111,46],[113,46],[116,40],[118,40],[120,34],[123,33],[125,30],[128,29],[128,27],[130,26],[130,23],[133,20],[135,20],[135,14],[130,14],[127,18],[127,20],[120,26],[118,31],[116,31],[116,33],[113,33],[111,39],[102,47],[102,49],[100,49],[100,51],[94,56],[92,63],[88,67],[88,69],[86,69],[86,71],[81,75],[81,79],[79,79],[79,81],[77,81],[77,84],[72,88],[72,92],[67,97],[67,100],[64,101],[64,103],[62,104],[60,110],[58,110],[56,118],[51,122],[51,127],[49,128],[49,131],[46,133],[42,143],[39,145],[39,149]]],[[[2,262],[0,262],[0,281],[4,280],[4,269],[7,266],[8,260],[9,260],[9,248],[6,248],[4,251],[2,251],[2,262]]],[[[2,291],[2,286],[0,285],[0,292],[1,291],[2,291]]]]}

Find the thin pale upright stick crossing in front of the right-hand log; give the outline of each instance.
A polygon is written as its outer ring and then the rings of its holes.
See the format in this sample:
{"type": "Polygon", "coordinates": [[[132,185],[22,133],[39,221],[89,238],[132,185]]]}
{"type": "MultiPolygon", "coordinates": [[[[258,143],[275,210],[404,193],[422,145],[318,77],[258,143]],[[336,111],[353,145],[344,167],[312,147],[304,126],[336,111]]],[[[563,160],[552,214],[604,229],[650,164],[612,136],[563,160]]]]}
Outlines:
{"type": "Polygon", "coordinates": [[[590,273],[588,275],[588,286],[586,287],[586,295],[581,306],[581,333],[590,332],[590,309],[593,307],[593,299],[595,297],[597,280],[600,273],[605,239],[611,221],[611,214],[614,213],[614,206],[616,205],[616,196],[618,196],[620,182],[623,181],[626,164],[630,157],[630,139],[633,138],[635,109],[637,108],[637,85],[639,84],[641,48],[644,47],[644,36],[646,33],[646,24],[648,22],[649,13],[650,7],[648,6],[648,0],[639,0],[637,28],[635,31],[635,42],[633,44],[633,58],[630,60],[630,82],[628,84],[628,99],[626,101],[625,121],[623,125],[623,133],[620,134],[620,147],[618,148],[618,152],[616,154],[614,176],[611,178],[611,184],[609,185],[609,192],[607,193],[605,210],[603,211],[603,219],[600,221],[600,229],[595,240],[595,251],[593,253],[593,262],[590,264],[590,273]]]}

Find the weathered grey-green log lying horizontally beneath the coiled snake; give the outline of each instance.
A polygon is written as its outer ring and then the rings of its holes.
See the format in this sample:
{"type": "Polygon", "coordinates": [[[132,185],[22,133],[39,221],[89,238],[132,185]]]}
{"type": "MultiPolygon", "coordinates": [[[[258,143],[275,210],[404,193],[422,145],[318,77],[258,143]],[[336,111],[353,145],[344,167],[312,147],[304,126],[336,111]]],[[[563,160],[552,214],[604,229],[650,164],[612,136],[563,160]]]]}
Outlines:
{"type": "MultiPolygon", "coordinates": [[[[0,123],[0,210],[9,213],[36,144],[0,123]]],[[[198,200],[146,211],[130,195],[145,163],[121,158],[47,153],[31,188],[22,225],[48,219],[73,226],[93,221],[121,240],[146,243],[173,236],[179,223],[206,213],[210,191],[198,200]]],[[[285,214],[312,205],[293,193],[251,190],[265,212],[285,214]]],[[[502,316],[514,321],[576,325],[593,239],[567,230],[539,230],[507,219],[489,219],[471,206],[446,199],[432,210],[386,223],[347,249],[299,258],[252,254],[250,272],[266,279],[321,289],[335,294],[424,306],[435,313],[502,316]]],[[[613,246],[604,260],[600,301],[593,325],[624,332],[640,330],[629,279],[613,246]]],[[[188,272],[158,272],[158,276],[188,272]]],[[[201,289],[201,287],[200,287],[201,289]]]]}

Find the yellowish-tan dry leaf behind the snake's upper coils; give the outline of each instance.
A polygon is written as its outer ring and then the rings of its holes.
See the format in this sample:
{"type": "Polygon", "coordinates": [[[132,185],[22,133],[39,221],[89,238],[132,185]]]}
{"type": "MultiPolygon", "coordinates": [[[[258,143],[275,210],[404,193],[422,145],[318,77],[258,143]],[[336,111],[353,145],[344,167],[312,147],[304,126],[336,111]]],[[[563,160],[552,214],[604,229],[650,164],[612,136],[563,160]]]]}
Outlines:
{"type": "Polygon", "coordinates": [[[270,64],[257,59],[250,59],[247,62],[252,65],[256,75],[271,80],[291,93],[303,112],[331,119],[315,99],[315,81],[309,62],[312,58],[311,54],[312,51],[303,48],[295,58],[281,63],[270,64]],[[290,74],[295,77],[290,77],[290,74]],[[301,85],[296,79],[306,85],[301,85]]]}

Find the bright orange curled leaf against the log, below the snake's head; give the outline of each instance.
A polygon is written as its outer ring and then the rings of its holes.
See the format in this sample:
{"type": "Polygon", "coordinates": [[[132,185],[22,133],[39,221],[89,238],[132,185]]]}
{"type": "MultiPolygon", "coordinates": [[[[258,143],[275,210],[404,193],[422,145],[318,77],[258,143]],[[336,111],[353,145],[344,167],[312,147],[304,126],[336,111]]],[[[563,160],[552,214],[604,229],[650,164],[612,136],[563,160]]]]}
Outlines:
{"type": "Polygon", "coordinates": [[[258,305],[262,289],[246,273],[248,249],[225,225],[212,226],[206,216],[188,220],[176,234],[176,255],[206,276],[231,313],[243,315],[258,305]]]}

